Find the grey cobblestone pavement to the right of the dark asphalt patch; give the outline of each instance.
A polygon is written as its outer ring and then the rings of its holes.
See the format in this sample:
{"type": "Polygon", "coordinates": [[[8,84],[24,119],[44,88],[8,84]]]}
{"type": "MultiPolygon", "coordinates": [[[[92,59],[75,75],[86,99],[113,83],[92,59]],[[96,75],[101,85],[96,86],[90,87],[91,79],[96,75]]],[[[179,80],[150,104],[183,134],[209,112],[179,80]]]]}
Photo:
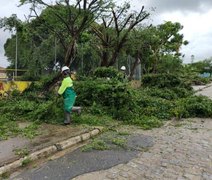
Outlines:
{"type": "Polygon", "coordinates": [[[132,131],[152,136],[155,145],[127,164],[74,180],[212,180],[212,119],[171,121],[159,129],[132,131]]]}

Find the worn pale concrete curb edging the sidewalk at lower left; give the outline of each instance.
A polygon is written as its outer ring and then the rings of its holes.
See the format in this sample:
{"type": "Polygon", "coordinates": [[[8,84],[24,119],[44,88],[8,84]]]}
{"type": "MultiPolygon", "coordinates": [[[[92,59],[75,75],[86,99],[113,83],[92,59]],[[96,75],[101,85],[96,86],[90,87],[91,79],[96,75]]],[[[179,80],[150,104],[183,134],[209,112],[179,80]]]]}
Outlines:
{"type": "Polygon", "coordinates": [[[65,150],[65,149],[70,148],[80,142],[86,141],[86,140],[90,139],[91,137],[96,136],[97,134],[99,134],[102,131],[103,131],[102,127],[95,127],[90,132],[78,135],[76,137],[69,138],[67,140],[61,141],[59,143],[56,143],[54,145],[51,145],[51,146],[41,149],[39,151],[33,152],[32,154],[30,154],[24,158],[20,158],[19,160],[14,161],[13,163],[10,163],[10,164],[0,167],[0,176],[2,176],[4,173],[7,173],[7,172],[15,170],[19,167],[22,167],[25,160],[35,161],[42,157],[50,156],[51,154],[54,154],[58,151],[65,150]]]}

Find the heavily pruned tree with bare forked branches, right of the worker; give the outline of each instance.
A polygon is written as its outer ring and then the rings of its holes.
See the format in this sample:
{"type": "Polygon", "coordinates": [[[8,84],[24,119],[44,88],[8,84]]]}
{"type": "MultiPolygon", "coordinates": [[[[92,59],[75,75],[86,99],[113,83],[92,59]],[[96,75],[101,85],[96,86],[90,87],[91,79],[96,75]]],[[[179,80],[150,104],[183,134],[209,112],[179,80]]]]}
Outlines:
{"type": "Polygon", "coordinates": [[[92,26],[99,41],[96,49],[101,57],[101,66],[108,67],[116,63],[118,55],[128,41],[130,32],[149,16],[149,13],[144,11],[144,6],[139,13],[129,13],[129,9],[128,3],[122,7],[114,6],[102,16],[100,25],[92,26]]]}

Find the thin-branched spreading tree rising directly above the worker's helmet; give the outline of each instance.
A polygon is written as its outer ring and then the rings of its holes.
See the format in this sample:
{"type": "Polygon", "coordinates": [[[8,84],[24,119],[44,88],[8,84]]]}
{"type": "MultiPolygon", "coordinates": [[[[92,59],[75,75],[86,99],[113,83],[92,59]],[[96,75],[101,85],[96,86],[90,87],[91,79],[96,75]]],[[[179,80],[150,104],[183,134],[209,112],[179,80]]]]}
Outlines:
{"type": "Polygon", "coordinates": [[[54,24],[44,20],[45,25],[56,34],[65,49],[64,64],[70,66],[76,55],[77,41],[82,34],[104,11],[111,5],[109,0],[76,0],[72,3],[70,0],[55,1],[56,5],[48,4],[43,0],[20,0],[21,4],[30,3],[34,15],[39,18],[37,13],[40,7],[49,9],[50,20],[60,22],[66,29],[69,37],[64,39],[63,31],[54,28],[54,24]],[[58,8],[64,8],[64,11],[58,11],[58,8]],[[66,42],[67,41],[67,42],[66,42]],[[67,44],[66,44],[66,43],[67,44]]]}

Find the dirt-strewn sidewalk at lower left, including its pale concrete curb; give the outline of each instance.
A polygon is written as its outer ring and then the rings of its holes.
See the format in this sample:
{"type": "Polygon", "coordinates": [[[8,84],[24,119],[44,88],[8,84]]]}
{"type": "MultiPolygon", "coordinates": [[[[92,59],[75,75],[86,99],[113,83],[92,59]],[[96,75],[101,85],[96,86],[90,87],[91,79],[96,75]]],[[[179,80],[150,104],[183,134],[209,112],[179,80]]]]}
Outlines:
{"type": "MultiPolygon", "coordinates": [[[[20,127],[27,125],[29,123],[19,124],[20,127]]],[[[10,167],[10,165],[14,164],[14,162],[17,162],[16,164],[20,164],[21,166],[21,161],[19,162],[19,160],[23,160],[24,157],[31,157],[33,155],[32,159],[38,159],[40,156],[49,154],[50,151],[52,151],[50,153],[55,153],[59,150],[66,149],[83,140],[89,139],[99,132],[99,128],[95,127],[42,124],[39,128],[40,135],[34,139],[14,137],[0,141],[0,175],[7,170],[13,170],[13,167],[10,167]],[[37,154],[36,156],[38,158],[34,157],[35,154],[37,154]]]]}

